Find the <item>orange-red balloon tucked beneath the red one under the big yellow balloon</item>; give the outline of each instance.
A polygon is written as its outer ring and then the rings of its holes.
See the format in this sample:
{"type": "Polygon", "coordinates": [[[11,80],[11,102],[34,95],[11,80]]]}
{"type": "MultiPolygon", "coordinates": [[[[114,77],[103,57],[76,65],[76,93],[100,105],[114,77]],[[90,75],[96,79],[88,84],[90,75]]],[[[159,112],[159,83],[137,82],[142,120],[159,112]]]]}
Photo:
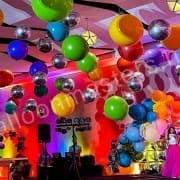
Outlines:
{"type": "Polygon", "coordinates": [[[117,61],[117,67],[119,69],[119,71],[124,71],[126,69],[134,69],[135,65],[133,62],[128,61],[126,59],[123,59],[122,57],[118,59],[117,61]]]}

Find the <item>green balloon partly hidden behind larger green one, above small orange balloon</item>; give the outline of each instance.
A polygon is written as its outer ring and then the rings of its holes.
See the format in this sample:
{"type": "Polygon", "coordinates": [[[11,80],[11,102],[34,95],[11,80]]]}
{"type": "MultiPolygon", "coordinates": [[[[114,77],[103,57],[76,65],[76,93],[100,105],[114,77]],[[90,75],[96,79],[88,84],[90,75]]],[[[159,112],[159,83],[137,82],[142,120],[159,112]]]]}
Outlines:
{"type": "Polygon", "coordinates": [[[83,72],[91,72],[97,65],[97,57],[89,52],[83,59],[76,62],[78,68],[83,72]]]}

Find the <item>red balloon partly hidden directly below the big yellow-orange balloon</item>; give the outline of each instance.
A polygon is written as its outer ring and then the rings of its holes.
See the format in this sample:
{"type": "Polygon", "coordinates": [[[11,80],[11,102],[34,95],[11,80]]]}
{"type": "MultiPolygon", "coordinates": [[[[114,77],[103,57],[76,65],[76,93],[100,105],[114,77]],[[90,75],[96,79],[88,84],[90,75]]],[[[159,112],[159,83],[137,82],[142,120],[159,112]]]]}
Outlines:
{"type": "Polygon", "coordinates": [[[122,58],[129,61],[134,61],[143,54],[144,49],[141,41],[138,41],[130,46],[119,46],[118,51],[122,58]]]}

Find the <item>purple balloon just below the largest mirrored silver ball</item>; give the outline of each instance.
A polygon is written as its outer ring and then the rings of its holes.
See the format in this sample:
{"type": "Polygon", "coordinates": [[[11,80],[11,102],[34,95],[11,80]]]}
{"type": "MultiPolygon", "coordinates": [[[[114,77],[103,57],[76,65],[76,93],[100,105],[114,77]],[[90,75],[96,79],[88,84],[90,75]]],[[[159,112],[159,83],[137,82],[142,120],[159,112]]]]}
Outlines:
{"type": "Polygon", "coordinates": [[[149,66],[159,67],[164,62],[164,55],[159,49],[149,49],[144,53],[144,61],[149,66]]]}

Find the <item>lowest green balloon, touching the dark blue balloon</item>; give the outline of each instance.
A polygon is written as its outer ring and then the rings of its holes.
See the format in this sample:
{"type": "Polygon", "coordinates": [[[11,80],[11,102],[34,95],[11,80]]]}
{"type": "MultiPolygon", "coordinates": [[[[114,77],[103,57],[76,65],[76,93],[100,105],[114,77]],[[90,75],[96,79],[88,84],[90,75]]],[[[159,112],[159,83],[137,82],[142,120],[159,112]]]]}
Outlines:
{"type": "Polygon", "coordinates": [[[111,120],[123,120],[128,112],[128,104],[119,96],[111,96],[105,101],[104,112],[111,120]]]}

